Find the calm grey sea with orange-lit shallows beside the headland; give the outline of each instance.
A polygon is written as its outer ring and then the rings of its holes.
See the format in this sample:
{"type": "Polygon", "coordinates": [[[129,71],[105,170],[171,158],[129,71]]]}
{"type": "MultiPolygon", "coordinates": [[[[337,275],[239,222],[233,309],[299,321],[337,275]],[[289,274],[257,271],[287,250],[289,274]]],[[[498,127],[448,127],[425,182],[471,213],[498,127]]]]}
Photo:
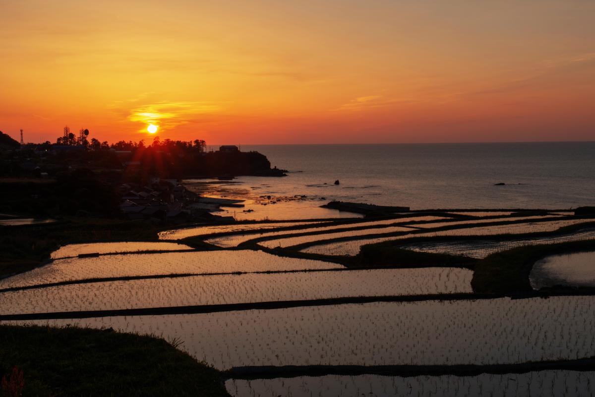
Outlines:
{"type": "Polygon", "coordinates": [[[289,172],[287,177],[211,181],[205,195],[245,199],[245,208],[226,210],[239,219],[334,217],[337,214],[315,209],[331,200],[412,210],[571,210],[595,205],[595,142],[242,145],[241,149],[258,151],[271,166],[289,172]]]}

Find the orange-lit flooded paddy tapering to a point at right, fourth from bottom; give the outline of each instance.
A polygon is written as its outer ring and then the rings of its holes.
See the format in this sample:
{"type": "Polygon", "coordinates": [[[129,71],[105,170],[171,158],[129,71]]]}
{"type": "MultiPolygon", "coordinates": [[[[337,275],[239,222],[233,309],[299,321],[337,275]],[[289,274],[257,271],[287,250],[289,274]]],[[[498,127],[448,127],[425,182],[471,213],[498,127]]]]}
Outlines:
{"type": "Polygon", "coordinates": [[[167,252],[56,260],[0,280],[0,289],[106,277],[342,268],[330,262],[282,258],[262,251],[167,252]]]}

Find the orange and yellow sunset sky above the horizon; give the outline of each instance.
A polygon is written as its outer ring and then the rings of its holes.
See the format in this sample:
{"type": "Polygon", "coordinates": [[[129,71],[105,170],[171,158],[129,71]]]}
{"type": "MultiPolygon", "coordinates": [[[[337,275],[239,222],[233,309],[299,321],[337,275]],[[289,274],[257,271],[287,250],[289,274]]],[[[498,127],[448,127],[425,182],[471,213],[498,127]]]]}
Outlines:
{"type": "Polygon", "coordinates": [[[590,0],[2,0],[0,130],[593,140],[594,21],[590,0]]]}

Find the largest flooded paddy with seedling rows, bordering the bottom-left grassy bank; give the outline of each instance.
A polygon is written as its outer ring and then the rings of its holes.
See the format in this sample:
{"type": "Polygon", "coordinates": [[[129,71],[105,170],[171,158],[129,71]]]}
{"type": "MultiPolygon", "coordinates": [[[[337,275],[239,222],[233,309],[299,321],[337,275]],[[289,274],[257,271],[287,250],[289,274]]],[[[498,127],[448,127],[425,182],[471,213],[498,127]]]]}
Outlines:
{"type": "Polygon", "coordinates": [[[380,302],[33,322],[177,337],[190,354],[221,369],[506,364],[593,355],[594,303],[588,296],[380,302]]]}

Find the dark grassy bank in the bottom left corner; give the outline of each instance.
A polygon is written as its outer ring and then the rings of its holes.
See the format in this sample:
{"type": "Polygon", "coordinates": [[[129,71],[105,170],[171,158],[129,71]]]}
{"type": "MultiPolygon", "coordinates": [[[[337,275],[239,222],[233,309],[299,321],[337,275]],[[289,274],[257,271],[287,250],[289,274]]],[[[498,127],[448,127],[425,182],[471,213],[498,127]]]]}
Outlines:
{"type": "Polygon", "coordinates": [[[20,371],[22,395],[229,396],[219,371],[165,340],[111,329],[0,326],[5,389],[20,371]]]}

